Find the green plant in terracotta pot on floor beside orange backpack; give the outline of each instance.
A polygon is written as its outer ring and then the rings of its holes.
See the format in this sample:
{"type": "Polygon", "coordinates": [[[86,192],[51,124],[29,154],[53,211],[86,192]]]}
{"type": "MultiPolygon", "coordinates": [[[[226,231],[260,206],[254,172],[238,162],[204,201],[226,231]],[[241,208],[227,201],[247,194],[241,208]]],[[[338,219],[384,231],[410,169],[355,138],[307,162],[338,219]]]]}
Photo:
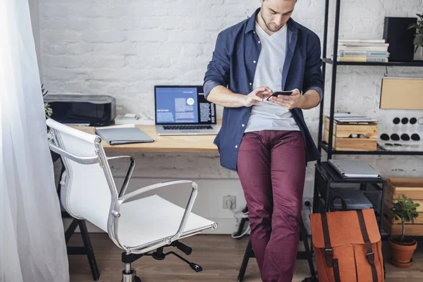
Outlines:
{"type": "Polygon", "coordinates": [[[398,201],[391,208],[393,218],[400,220],[403,226],[400,236],[391,236],[388,238],[388,243],[391,247],[392,264],[394,266],[407,268],[412,264],[412,254],[416,250],[417,241],[410,236],[405,236],[405,223],[414,223],[415,218],[420,213],[417,212],[417,207],[419,206],[419,204],[415,204],[410,198],[403,195],[402,199],[398,197],[398,201]]]}

